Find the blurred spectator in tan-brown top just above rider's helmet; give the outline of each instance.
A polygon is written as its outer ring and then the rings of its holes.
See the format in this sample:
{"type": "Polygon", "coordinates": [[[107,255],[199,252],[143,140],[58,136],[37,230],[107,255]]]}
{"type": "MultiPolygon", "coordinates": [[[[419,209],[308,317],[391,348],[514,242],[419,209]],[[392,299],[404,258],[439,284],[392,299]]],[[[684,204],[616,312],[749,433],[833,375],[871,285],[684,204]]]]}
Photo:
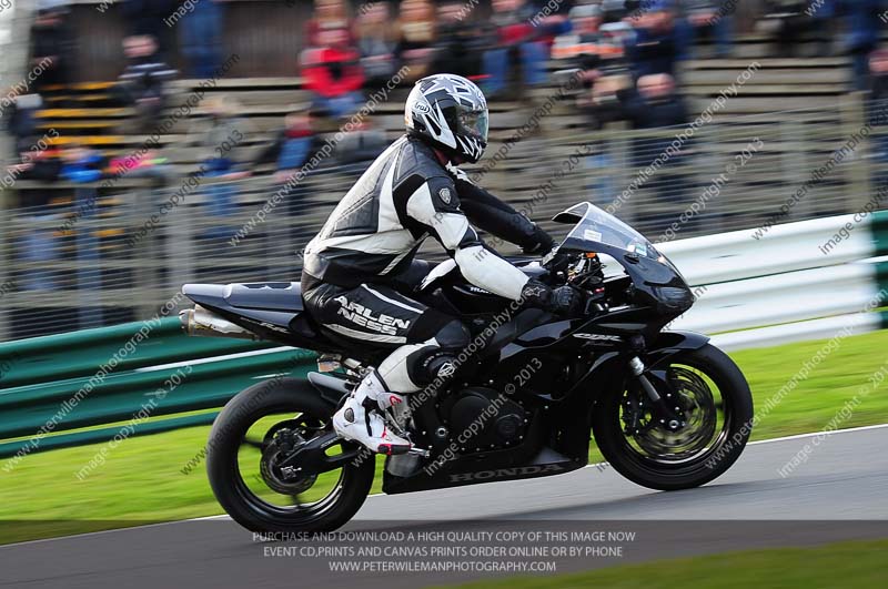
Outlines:
{"type": "Polygon", "coordinates": [[[404,0],[397,22],[398,39],[395,54],[402,65],[410,68],[408,82],[432,73],[435,57],[435,7],[428,0],[404,0]]]}

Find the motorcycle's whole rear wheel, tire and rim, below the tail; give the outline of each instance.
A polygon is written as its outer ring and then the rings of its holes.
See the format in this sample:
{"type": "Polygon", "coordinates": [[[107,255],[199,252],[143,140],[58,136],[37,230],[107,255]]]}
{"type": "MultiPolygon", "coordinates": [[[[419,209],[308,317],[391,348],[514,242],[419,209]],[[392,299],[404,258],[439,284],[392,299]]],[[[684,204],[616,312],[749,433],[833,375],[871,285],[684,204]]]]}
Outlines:
{"type": "MultiPolygon", "coordinates": [[[[278,497],[274,492],[283,491],[282,496],[286,496],[286,490],[281,489],[281,485],[274,485],[274,481],[272,486],[278,489],[271,492],[263,495],[254,490],[256,480],[268,480],[270,476],[266,456],[275,436],[282,429],[300,431],[300,427],[303,427],[302,431],[329,430],[335,406],[322,399],[311,387],[306,388],[305,383],[294,378],[259,383],[242,390],[225,405],[210,433],[206,474],[219,504],[232,519],[244,528],[259,532],[316,532],[334,530],[357,512],[373,485],[375,459],[372,455],[365,455],[361,460],[346,461],[340,469],[336,481],[329,476],[332,490],[329,496],[316,501],[303,505],[299,499],[302,494],[311,492],[312,486],[316,484],[317,477],[312,478],[311,475],[292,486],[290,502],[295,505],[289,502],[280,506],[269,500],[269,496],[278,497]],[[264,437],[260,431],[261,441],[251,444],[261,451],[254,450],[254,455],[250,457],[253,459],[244,460],[240,453],[245,446],[248,431],[252,431],[254,424],[263,419],[274,420],[269,416],[285,416],[285,420],[275,424],[264,437]],[[259,466],[260,461],[260,474],[252,478],[245,477],[242,473],[245,466],[253,463],[259,466]]],[[[343,450],[354,449],[349,443],[342,443],[342,446],[343,450]]]]}

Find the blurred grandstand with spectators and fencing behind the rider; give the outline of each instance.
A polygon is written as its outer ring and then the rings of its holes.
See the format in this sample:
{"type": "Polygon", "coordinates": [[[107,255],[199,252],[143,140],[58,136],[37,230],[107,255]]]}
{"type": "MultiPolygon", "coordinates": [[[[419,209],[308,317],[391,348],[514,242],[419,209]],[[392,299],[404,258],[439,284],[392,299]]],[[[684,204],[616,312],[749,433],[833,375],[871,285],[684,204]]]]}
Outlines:
{"type": "Polygon", "coordinates": [[[876,0],[0,7],[0,341],[142,319],[185,282],[297,280],[299,253],[434,72],[488,97],[472,177],[547,229],[582,200],[616,201],[652,241],[851,213],[888,158],[875,118],[780,213],[878,111],[876,0]]]}

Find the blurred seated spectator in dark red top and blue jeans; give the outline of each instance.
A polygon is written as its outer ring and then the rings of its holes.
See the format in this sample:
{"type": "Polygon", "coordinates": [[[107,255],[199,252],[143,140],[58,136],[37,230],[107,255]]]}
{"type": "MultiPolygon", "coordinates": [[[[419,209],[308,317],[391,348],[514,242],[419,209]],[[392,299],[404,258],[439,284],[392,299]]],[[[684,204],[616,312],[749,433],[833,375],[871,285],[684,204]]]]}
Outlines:
{"type": "Polygon", "coordinates": [[[488,98],[495,99],[506,90],[515,63],[521,64],[522,88],[545,82],[548,51],[541,39],[543,31],[531,23],[534,17],[526,0],[493,0],[493,48],[484,52],[484,92],[488,98]]]}

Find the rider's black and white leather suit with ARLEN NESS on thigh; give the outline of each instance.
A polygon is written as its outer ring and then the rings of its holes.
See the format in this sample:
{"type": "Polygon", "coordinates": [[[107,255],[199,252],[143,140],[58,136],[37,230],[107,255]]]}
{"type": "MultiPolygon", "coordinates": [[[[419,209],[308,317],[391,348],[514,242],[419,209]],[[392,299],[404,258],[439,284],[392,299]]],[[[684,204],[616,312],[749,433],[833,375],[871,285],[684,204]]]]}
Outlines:
{"type": "Polygon", "coordinates": [[[411,298],[402,286],[424,240],[438,241],[475,286],[517,301],[527,283],[473,225],[526,253],[546,253],[554,245],[548,234],[462,171],[442,165],[422,140],[402,136],[307,245],[302,273],[306,309],[355,345],[394,348],[380,365],[380,376],[389,390],[418,390],[470,343],[458,318],[411,298]]]}

